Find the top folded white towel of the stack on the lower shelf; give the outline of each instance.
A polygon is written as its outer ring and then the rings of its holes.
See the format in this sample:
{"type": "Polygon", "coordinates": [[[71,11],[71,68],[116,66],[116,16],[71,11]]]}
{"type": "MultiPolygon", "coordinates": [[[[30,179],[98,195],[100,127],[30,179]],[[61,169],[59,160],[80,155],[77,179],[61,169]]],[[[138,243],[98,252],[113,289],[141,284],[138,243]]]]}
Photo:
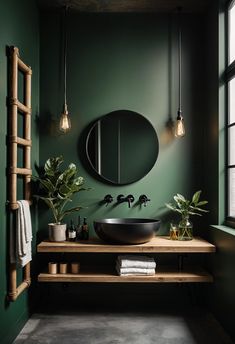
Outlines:
{"type": "Polygon", "coordinates": [[[145,268],[155,269],[156,262],[152,257],[138,255],[121,255],[117,258],[121,268],[145,268]]]}

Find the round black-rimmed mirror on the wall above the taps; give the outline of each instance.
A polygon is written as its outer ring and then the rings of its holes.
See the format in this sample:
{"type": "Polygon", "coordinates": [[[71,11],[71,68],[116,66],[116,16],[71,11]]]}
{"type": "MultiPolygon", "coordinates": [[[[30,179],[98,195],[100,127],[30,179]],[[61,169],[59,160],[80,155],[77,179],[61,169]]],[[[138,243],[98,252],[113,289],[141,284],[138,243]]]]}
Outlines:
{"type": "Polygon", "coordinates": [[[158,151],[152,124],[129,110],[113,111],[99,118],[86,138],[86,155],[92,169],[116,185],[143,178],[154,166],[158,151]]]}

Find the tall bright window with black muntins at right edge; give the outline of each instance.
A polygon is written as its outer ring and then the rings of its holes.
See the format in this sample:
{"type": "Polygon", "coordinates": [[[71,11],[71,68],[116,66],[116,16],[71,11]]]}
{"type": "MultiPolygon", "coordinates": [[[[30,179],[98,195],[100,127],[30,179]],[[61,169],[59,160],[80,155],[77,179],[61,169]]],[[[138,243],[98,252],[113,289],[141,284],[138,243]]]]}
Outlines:
{"type": "Polygon", "coordinates": [[[227,220],[235,225],[235,0],[227,9],[227,220]]]}

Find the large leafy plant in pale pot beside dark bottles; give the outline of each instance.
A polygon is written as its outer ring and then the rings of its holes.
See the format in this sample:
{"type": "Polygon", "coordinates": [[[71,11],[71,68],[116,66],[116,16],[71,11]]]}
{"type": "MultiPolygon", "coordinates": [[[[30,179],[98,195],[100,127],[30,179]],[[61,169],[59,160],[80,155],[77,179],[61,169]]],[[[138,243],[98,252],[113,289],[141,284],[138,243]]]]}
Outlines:
{"type": "Polygon", "coordinates": [[[64,241],[66,240],[66,224],[62,221],[65,216],[80,210],[81,206],[68,208],[68,204],[72,202],[74,194],[82,190],[88,190],[82,185],[83,177],[77,175],[77,167],[71,163],[69,166],[61,170],[63,157],[49,158],[45,165],[41,176],[34,177],[42,190],[42,194],[36,195],[51,209],[54,222],[49,223],[49,240],[64,241]]]}

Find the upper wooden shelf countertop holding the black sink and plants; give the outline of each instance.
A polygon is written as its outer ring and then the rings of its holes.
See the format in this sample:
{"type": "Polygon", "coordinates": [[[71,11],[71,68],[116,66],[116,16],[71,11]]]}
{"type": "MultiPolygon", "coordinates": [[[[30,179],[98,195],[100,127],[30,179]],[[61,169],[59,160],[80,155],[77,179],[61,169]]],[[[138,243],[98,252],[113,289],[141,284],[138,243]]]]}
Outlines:
{"type": "Polygon", "coordinates": [[[77,252],[77,253],[212,253],[215,246],[202,238],[190,241],[170,240],[158,236],[145,244],[110,245],[99,239],[81,242],[43,241],[37,246],[38,252],[77,252]]]}

